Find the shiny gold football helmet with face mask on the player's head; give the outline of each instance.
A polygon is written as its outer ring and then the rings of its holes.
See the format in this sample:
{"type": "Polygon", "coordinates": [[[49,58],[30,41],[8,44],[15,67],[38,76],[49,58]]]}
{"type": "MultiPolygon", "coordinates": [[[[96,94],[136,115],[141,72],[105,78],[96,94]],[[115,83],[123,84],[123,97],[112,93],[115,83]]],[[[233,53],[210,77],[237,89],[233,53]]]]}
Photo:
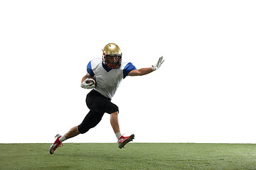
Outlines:
{"type": "Polygon", "coordinates": [[[122,62],[122,52],[120,48],[114,44],[107,44],[102,50],[103,64],[109,69],[118,69],[122,62]]]}

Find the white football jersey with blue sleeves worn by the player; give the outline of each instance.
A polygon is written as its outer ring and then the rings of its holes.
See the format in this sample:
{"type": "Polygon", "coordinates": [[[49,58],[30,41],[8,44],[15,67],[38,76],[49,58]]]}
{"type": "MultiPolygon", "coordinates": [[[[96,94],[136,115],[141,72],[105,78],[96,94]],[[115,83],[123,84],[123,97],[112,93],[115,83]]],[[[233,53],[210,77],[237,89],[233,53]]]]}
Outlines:
{"type": "Polygon", "coordinates": [[[127,74],[136,69],[131,62],[122,62],[118,69],[108,69],[101,58],[95,58],[87,64],[87,72],[95,75],[95,90],[102,96],[112,99],[119,84],[127,77],[127,74]]]}

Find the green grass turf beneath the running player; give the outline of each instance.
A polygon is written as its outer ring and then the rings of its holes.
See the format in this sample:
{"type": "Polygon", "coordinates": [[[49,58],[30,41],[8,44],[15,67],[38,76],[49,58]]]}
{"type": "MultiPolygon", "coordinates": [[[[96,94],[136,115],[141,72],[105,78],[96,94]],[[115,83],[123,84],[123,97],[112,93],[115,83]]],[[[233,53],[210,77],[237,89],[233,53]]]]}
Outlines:
{"type": "Polygon", "coordinates": [[[250,144],[0,144],[0,169],[256,169],[250,144]]]}

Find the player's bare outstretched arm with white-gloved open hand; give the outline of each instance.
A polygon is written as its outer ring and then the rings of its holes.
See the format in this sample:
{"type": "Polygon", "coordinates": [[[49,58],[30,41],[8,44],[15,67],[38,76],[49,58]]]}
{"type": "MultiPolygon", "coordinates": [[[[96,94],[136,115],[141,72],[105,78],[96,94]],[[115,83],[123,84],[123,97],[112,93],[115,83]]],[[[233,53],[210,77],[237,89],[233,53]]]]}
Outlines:
{"type": "Polygon", "coordinates": [[[128,76],[143,76],[145,74],[149,74],[151,72],[156,71],[156,69],[159,69],[161,64],[164,62],[163,56],[159,58],[159,61],[154,64],[152,67],[149,68],[142,68],[142,69],[134,69],[131,72],[128,73],[128,76]]]}

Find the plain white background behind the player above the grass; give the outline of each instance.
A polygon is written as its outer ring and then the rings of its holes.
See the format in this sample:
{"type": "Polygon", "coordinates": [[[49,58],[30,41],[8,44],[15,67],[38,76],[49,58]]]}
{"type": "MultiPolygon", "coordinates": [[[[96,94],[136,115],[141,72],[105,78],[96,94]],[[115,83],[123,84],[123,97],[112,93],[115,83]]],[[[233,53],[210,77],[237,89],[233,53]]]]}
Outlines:
{"type": "MultiPolygon", "coordinates": [[[[1,1],[0,142],[53,142],[88,112],[86,65],[115,42],[159,70],[112,99],[134,142],[256,142],[255,1],[1,1]]],[[[67,142],[116,142],[105,114],[67,142]]]]}

